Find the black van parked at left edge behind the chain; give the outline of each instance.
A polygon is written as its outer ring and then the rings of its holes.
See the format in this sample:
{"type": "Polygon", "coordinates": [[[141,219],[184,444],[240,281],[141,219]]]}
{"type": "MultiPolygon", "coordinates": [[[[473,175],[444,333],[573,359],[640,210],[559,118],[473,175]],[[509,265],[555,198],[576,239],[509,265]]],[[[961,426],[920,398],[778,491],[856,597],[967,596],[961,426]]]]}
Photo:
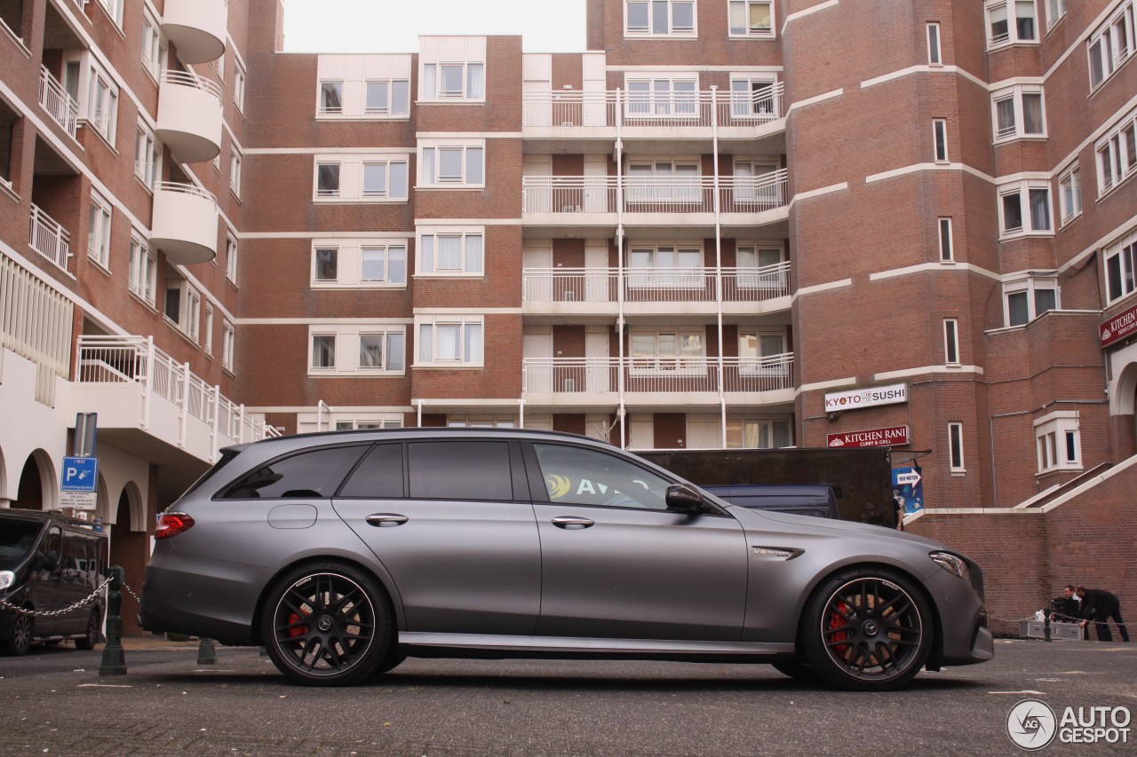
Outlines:
{"type": "MultiPolygon", "coordinates": [[[[0,510],[0,600],[25,610],[60,610],[91,596],[107,575],[107,535],[60,513],[0,510]]],[[[102,641],[102,594],[70,613],[40,616],[0,605],[0,654],[26,655],[34,642],[102,641]]]]}

